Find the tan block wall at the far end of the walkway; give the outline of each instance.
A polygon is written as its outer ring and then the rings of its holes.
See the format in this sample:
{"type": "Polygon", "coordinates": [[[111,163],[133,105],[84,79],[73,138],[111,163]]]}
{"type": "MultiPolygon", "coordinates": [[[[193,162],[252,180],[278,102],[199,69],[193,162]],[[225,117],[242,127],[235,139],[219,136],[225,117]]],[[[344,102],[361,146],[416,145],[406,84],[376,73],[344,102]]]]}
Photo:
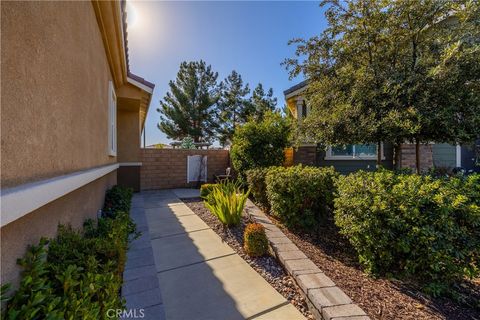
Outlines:
{"type": "Polygon", "coordinates": [[[141,149],[140,189],[186,188],[197,185],[187,183],[187,157],[207,156],[207,179],[213,182],[215,175],[225,174],[230,166],[228,150],[196,149],[141,149]]]}

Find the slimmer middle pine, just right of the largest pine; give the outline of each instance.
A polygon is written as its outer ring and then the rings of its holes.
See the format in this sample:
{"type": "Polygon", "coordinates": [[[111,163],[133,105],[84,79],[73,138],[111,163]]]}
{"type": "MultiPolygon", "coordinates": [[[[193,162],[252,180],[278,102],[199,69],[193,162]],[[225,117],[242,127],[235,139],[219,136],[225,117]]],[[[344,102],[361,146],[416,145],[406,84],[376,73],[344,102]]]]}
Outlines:
{"type": "Polygon", "coordinates": [[[232,141],[235,128],[247,121],[249,116],[250,93],[248,84],[243,84],[242,76],[235,70],[220,84],[221,98],[218,103],[218,138],[225,146],[232,141]]]}

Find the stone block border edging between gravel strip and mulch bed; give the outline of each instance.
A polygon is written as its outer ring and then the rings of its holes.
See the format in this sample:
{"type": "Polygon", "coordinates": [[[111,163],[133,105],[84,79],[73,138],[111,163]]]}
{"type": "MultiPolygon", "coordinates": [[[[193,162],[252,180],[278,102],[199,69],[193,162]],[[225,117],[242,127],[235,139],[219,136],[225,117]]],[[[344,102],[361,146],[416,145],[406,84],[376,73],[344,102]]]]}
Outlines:
{"type": "Polygon", "coordinates": [[[270,247],[301,288],[315,318],[370,319],[365,311],[353,303],[252,201],[247,200],[245,210],[250,217],[265,227],[270,247]]]}

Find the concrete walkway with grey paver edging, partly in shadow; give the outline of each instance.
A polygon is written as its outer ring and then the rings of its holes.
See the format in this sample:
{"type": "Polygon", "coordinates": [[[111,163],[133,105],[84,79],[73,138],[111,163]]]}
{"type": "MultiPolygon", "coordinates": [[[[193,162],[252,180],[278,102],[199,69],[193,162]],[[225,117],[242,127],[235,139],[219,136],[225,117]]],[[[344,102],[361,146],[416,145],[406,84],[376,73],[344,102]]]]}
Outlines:
{"type": "Polygon", "coordinates": [[[127,307],[148,305],[150,319],[304,319],[179,199],[196,196],[191,189],[134,196],[143,235],[128,253],[127,307]]]}

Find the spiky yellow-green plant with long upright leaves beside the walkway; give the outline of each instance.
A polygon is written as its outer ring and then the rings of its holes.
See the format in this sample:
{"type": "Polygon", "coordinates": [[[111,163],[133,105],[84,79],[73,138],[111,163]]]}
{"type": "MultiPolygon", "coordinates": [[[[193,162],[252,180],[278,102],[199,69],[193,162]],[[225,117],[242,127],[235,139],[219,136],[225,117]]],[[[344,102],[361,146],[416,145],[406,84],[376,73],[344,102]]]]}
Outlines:
{"type": "Polygon", "coordinates": [[[249,191],[244,193],[239,183],[222,181],[208,195],[205,206],[226,226],[240,223],[249,191]]]}

